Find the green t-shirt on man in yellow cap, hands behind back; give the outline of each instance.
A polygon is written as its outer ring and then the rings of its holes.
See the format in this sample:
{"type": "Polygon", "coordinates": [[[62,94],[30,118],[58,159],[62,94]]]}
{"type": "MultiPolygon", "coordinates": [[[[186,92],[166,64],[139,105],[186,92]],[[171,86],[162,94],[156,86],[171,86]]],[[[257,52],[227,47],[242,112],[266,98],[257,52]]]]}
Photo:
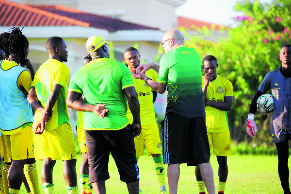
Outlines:
{"type": "Polygon", "coordinates": [[[69,91],[84,94],[85,102],[101,103],[109,114],[100,118],[93,112],[84,112],[86,130],[118,130],[129,124],[126,117],[127,99],[122,89],[134,86],[129,69],[109,58],[99,58],[87,63],[70,80],[69,91]]]}

